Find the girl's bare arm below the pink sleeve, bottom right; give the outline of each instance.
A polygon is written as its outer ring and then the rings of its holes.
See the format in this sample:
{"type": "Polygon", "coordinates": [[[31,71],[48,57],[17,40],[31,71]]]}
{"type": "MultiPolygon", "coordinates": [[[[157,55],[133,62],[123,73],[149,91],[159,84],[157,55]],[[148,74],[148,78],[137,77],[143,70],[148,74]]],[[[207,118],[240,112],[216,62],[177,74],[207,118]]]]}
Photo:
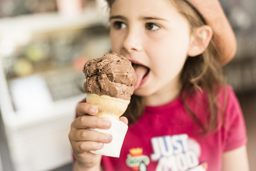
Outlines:
{"type": "Polygon", "coordinates": [[[246,145],[223,153],[222,171],[250,171],[246,145]]]}

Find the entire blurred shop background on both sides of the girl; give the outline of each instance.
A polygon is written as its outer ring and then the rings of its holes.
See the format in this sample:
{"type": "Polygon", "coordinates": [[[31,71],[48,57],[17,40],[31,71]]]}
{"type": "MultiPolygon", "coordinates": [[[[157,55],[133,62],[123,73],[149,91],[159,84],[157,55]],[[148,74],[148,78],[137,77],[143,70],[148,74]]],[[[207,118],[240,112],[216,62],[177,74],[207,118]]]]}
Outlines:
{"type": "MultiPolygon", "coordinates": [[[[238,51],[224,67],[256,170],[256,1],[221,0],[238,51]]],[[[0,171],[71,171],[82,68],[110,50],[104,0],[0,0],[0,171]]]]}

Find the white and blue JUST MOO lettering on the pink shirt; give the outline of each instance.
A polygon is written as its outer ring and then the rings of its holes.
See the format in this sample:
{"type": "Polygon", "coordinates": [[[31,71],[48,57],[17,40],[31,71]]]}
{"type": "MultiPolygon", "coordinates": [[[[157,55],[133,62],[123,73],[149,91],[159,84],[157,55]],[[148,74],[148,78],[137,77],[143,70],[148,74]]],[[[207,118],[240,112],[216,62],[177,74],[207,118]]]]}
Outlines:
{"type": "Polygon", "coordinates": [[[199,164],[200,145],[187,134],[151,138],[154,153],[151,161],[158,161],[156,171],[207,171],[208,163],[199,164]]]}

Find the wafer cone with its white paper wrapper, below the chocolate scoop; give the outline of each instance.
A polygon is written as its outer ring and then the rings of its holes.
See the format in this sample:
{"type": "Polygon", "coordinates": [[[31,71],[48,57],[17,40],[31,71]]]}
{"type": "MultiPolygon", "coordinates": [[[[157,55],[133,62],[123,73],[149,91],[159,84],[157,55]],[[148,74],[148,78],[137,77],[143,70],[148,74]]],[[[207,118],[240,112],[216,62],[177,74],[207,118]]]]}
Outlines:
{"type": "Polygon", "coordinates": [[[88,130],[109,133],[113,137],[110,143],[104,143],[102,149],[92,150],[90,152],[111,157],[119,157],[124,137],[128,129],[128,125],[120,121],[119,117],[126,111],[130,100],[118,99],[107,95],[99,96],[86,93],[86,102],[98,107],[98,114],[96,116],[108,118],[112,123],[110,129],[88,128],[88,130]]]}

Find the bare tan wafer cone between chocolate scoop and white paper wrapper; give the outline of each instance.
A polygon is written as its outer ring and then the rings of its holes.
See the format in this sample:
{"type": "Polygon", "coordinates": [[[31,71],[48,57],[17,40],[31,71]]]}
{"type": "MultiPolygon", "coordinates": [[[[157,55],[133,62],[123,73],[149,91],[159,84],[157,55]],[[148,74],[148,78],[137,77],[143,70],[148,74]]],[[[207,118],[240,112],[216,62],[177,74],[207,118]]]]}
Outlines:
{"type": "Polygon", "coordinates": [[[118,99],[108,95],[86,93],[86,102],[98,107],[98,117],[113,117],[120,121],[119,117],[126,111],[130,100],[118,99]]]}

